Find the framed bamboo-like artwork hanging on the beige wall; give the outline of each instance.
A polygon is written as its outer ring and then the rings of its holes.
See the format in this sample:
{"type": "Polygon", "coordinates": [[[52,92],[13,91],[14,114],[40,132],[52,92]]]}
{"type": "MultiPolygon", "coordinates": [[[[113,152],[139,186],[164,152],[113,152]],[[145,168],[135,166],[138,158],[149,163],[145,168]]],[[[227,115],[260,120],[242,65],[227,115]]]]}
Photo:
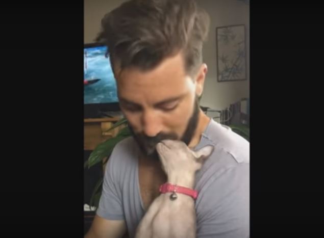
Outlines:
{"type": "Polygon", "coordinates": [[[245,25],[216,28],[217,81],[246,80],[245,25]]]}

